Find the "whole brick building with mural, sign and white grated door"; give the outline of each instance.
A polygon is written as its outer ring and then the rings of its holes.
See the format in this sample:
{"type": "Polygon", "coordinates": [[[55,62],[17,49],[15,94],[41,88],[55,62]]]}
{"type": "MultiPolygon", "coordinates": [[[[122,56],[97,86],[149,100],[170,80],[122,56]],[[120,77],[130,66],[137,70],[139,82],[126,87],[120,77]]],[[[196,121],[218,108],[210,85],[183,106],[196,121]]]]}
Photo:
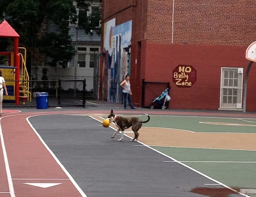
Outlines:
{"type": "MultiPolygon", "coordinates": [[[[248,0],[102,0],[99,98],[121,103],[129,73],[137,106],[170,83],[169,108],[242,110],[255,16],[248,0]]],[[[256,110],[255,75],[253,63],[246,111],[256,110]]]]}

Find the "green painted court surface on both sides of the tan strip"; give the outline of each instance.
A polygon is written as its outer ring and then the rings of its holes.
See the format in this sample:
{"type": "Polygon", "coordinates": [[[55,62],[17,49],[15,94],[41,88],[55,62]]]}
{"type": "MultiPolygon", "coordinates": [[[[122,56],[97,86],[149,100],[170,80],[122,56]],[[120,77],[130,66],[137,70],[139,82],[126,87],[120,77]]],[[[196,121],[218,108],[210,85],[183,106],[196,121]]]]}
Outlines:
{"type": "MultiPolygon", "coordinates": [[[[150,122],[145,124],[149,127],[174,128],[192,132],[256,134],[256,119],[253,118],[191,116],[150,116],[150,118],[150,122]]],[[[152,148],[229,187],[256,189],[256,151],[254,150],[162,146],[152,146],[152,148]]],[[[170,160],[167,159],[164,162],[170,162],[170,160]]],[[[256,194],[250,194],[250,196],[256,197],[256,194]]]]}

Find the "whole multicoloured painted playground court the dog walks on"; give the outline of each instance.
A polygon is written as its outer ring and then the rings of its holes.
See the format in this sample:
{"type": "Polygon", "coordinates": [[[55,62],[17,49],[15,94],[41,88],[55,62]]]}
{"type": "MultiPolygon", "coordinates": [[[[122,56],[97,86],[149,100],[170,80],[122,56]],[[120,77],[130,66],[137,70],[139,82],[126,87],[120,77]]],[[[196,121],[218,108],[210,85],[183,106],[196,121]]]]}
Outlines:
{"type": "Polygon", "coordinates": [[[120,110],[150,122],[110,138],[113,106],[6,110],[0,119],[1,197],[256,196],[256,115],[120,110]]]}

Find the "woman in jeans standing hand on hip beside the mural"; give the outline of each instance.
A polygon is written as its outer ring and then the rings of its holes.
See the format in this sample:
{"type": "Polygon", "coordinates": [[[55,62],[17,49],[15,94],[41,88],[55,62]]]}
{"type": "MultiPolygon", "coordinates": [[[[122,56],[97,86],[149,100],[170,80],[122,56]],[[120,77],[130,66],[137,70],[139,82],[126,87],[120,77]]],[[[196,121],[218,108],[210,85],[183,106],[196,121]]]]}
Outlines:
{"type": "Polygon", "coordinates": [[[129,102],[129,105],[130,105],[131,109],[137,109],[132,104],[132,99],[131,99],[132,91],[131,91],[130,76],[129,75],[125,76],[125,79],[124,79],[124,81],[122,81],[122,83],[120,83],[120,86],[123,89],[122,92],[123,92],[123,95],[124,95],[124,109],[128,109],[127,100],[129,102]]]}

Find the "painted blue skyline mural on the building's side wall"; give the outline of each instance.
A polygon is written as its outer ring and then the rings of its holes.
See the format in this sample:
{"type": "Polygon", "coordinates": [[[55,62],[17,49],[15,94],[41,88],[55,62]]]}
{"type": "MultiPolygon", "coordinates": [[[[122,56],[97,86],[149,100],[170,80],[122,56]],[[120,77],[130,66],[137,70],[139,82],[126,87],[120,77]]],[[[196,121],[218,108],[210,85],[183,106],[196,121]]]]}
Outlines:
{"type": "Polygon", "coordinates": [[[132,20],[115,26],[115,19],[106,23],[104,30],[103,99],[122,102],[120,83],[130,74],[132,20]]]}

